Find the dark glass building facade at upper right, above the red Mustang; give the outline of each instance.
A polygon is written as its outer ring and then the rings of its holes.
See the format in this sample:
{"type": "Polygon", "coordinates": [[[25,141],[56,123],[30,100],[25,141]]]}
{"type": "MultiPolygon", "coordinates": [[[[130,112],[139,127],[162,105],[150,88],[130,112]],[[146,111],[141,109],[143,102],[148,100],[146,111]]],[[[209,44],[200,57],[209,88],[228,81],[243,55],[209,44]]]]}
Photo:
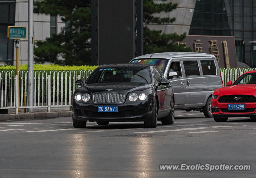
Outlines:
{"type": "Polygon", "coordinates": [[[256,0],[197,0],[190,35],[234,36],[236,58],[249,66],[256,40],[256,0]]]}

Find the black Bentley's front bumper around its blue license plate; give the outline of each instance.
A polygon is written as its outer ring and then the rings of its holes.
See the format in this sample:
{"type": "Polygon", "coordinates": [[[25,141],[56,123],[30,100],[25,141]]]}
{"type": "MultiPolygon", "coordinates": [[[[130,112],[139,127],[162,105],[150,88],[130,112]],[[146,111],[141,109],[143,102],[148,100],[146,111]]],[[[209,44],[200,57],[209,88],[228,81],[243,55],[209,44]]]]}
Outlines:
{"type": "Polygon", "coordinates": [[[147,121],[152,114],[152,104],[134,102],[128,104],[74,103],[73,117],[80,121],[136,122],[147,121]],[[98,112],[98,106],[118,106],[118,112],[98,112]]]}

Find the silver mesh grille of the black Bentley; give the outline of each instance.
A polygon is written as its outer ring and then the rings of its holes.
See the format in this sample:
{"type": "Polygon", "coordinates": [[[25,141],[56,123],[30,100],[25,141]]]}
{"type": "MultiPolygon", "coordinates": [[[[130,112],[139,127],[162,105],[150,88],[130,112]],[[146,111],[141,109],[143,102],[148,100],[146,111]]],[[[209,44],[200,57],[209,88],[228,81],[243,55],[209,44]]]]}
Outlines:
{"type": "Polygon", "coordinates": [[[96,93],[93,95],[94,103],[123,103],[123,93],[96,93]]]}

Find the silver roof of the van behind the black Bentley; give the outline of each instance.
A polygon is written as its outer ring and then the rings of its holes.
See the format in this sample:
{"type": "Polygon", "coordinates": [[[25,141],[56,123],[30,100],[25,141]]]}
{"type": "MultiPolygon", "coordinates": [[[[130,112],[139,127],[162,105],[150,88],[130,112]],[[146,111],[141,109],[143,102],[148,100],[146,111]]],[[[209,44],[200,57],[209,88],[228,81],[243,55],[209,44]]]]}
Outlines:
{"type": "Polygon", "coordinates": [[[214,55],[200,53],[200,52],[162,52],[162,53],[152,53],[152,54],[144,54],[142,56],[138,56],[134,59],[141,59],[141,58],[164,58],[170,59],[175,57],[209,57],[212,58],[214,55]]]}

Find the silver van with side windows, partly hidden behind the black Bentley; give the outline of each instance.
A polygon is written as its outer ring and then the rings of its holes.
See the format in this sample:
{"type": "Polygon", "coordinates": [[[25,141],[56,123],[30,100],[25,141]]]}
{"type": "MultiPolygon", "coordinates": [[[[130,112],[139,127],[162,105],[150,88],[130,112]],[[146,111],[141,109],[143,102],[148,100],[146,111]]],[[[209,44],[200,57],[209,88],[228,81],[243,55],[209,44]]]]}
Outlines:
{"type": "Polygon", "coordinates": [[[212,93],[222,86],[214,55],[194,52],[145,54],[130,63],[158,66],[174,89],[175,109],[199,110],[204,116],[212,117],[212,93]]]}

